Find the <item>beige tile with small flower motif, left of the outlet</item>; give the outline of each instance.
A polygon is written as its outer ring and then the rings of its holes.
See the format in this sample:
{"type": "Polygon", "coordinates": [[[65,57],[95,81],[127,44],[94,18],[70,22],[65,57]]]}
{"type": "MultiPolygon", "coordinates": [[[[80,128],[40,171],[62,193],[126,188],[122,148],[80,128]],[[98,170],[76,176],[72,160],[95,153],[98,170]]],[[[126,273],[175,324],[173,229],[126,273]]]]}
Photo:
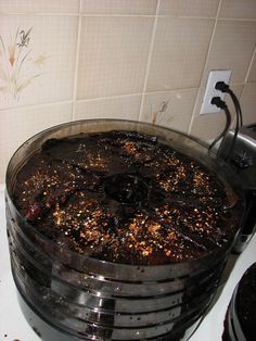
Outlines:
{"type": "Polygon", "coordinates": [[[141,119],[188,132],[197,89],[146,93],[141,119]]]}

